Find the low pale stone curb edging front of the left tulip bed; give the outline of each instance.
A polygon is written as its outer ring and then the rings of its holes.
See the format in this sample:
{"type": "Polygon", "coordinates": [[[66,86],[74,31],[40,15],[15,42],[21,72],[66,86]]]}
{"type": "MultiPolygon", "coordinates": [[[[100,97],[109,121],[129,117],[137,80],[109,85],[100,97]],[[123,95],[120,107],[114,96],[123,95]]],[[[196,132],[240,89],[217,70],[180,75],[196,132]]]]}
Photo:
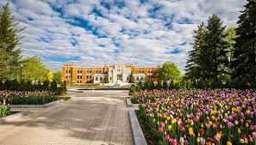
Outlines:
{"type": "Polygon", "coordinates": [[[64,100],[55,100],[55,101],[45,104],[45,105],[10,105],[10,108],[47,108],[50,106],[54,106],[63,101],[64,100]]]}

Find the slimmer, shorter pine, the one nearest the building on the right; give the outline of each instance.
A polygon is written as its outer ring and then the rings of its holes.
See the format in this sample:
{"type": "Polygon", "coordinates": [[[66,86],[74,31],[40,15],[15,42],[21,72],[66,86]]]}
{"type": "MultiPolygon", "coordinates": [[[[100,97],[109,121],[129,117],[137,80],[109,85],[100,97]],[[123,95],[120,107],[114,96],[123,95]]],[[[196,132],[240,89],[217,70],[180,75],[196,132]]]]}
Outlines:
{"type": "Polygon", "coordinates": [[[193,36],[193,49],[190,51],[185,68],[187,71],[186,76],[190,78],[193,86],[198,87],[200,80],[202,80],[201,77],[203,75],[203,71],[201,69],[201,59],[199,57],[205,34],[205,27],[203,25],[203,22],[198,26],[197,30],[195,30],[194,33],[196,35],[193,36]]]}

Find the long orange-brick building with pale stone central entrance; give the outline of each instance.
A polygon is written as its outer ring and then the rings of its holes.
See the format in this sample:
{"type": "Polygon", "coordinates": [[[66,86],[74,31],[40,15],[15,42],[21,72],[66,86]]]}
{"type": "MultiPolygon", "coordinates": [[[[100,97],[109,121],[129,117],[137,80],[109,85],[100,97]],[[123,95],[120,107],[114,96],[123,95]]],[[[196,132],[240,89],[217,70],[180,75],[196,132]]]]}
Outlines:
{"type": "Polygon", "coordinates": [[[136,67],[132,64],[112,64],[103,67],[77,67],[64,63],[61,81],[67,83],[157,82],[159,66],[136,67]]]}

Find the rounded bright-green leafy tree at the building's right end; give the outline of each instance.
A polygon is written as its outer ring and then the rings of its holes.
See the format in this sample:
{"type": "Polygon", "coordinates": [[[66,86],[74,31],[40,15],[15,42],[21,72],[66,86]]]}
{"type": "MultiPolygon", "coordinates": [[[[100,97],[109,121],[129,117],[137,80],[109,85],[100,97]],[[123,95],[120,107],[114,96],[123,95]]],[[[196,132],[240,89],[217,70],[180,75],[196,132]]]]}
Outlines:
{"type": "Polygon", "coordinates": [[[163,66],[159,69],[159,80],[160,81],[174,81],[180,80],[181,73],[175,63],[166,62],[163,66]]]}

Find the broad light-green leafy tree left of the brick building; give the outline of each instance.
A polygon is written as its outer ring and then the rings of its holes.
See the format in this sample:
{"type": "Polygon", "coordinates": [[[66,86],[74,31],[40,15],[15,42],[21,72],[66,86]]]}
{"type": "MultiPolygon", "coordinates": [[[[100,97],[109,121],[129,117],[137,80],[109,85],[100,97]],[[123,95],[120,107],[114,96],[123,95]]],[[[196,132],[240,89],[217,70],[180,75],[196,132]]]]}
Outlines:
{"type": "MultiPolygon", "coordinates": [[[[20,63],[23,65],[22,78],[24,80],[47,81],[49,69],[41,62],[41,57],[27,57],[22,59],[20,63]]],[[[20,78],[20,73],[18,73],[18,78],[20,78]]]]}

